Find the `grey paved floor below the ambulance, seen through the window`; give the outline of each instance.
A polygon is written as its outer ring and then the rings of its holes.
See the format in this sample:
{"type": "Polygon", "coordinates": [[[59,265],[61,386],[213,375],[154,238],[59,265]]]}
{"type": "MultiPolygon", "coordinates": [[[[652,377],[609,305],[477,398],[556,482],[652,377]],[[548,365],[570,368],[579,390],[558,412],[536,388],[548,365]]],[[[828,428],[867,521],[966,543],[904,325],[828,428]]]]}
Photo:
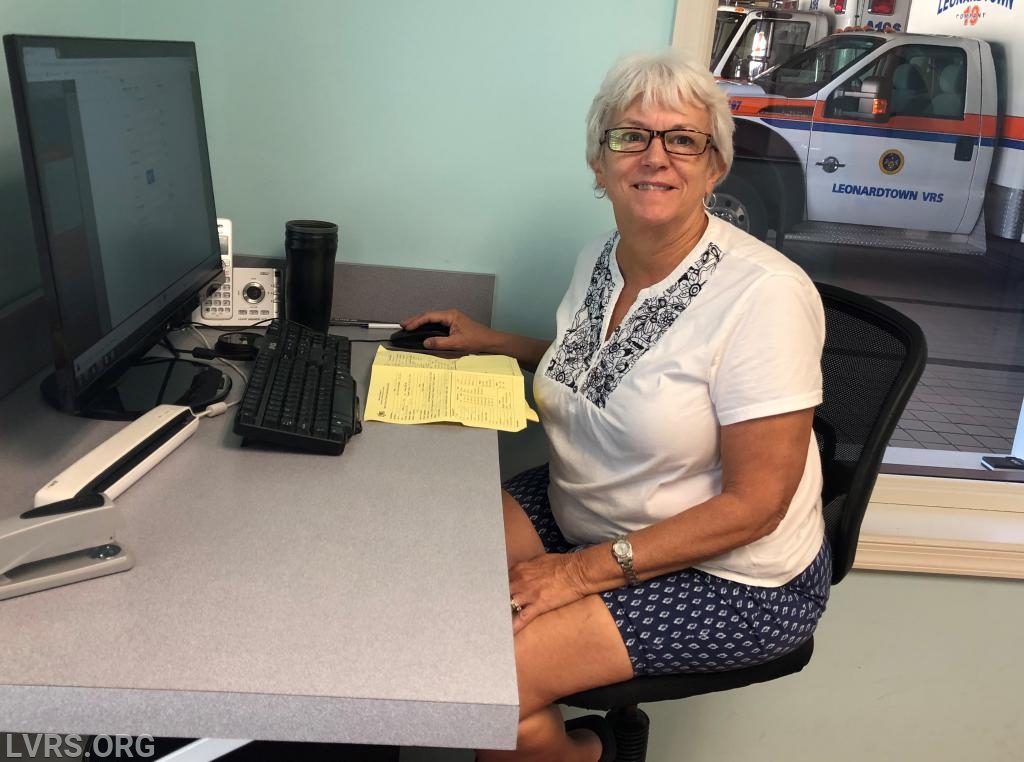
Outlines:
{"type": "Polygon", "coordinates": [[[892,446],[1007,454],[1024,399],[1024,244],[983,256],[793,243],[814,280],[873,296],[913,319],[929,363],[892,446]]]}

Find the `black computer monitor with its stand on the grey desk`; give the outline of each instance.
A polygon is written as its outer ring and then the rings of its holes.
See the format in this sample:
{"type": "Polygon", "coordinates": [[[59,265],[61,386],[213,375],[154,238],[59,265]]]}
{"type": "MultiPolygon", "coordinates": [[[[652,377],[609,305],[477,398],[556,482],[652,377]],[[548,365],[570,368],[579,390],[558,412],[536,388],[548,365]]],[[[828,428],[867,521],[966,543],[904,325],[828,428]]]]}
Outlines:
{"type": "Polygon", "coordinates": [[[44,395],[123,419],[222,398],[218,370],[142,358],[221,278],[195,44],[3,42],[50,315],[44,395]]]}

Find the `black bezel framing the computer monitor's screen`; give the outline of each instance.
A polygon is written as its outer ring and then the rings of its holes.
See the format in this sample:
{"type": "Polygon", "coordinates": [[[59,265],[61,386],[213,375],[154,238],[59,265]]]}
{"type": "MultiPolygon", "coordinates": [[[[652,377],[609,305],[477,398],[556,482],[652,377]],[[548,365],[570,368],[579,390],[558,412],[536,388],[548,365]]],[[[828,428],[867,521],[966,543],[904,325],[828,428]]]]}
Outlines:
{"type": "MultiPolygon", "coordinates": [[[[54,367],[53,382],[50,385],[50,393],[53,398],[50,401],[59,410],[82,414],[88,408],[91,399],[110,389],[117,379],[158,343],[174,324],[189,319],[193,310],[199,304],[199,293],[202,289],[223,278],[209,143],[206,134],[206,115],[203,108],[196,44],[167,40],[20,34],[4,35],[3,42],[32,217],[33,237],[39,258],[41,286],[47,304],[50,326],[54,367]],[[47,234],[46,205],[39,177],[40,166],[29,125],[28,93],[26,91],[28,73],[25,69],[24,51],[27,47],[40,46],[51,46],[69,53],[74,53],[78,48],[82,53],[88,54],[94,54],[96,46],[104,46],[111,52],[109,57],[128,57],[133,53],[137,55],[141,48],[141,51],[147,56],[160,55],[161,53],[175,57],[188,56],[191,58],[196,71],[196,86],[198,88],[196,118],[202,160],[203,190],[210,210],[210,253],[161,292],[160,296],[166,295],[168,297],[167,302],[156,313],[134,326],[130,333],[112,350],[116,352],[117,356],[112,359],[111,365],[88,380],[80,380],[77,377],[75,373],[76,354],[65,341],[61,329],[65,316],[61,313],[59,290],[52,262],[53,252],[47,234]]],[[[112,327],[112,330],[125,325],[128,321],[137,319],[136,315],[137,311],[118,326],[112,327]]]]}

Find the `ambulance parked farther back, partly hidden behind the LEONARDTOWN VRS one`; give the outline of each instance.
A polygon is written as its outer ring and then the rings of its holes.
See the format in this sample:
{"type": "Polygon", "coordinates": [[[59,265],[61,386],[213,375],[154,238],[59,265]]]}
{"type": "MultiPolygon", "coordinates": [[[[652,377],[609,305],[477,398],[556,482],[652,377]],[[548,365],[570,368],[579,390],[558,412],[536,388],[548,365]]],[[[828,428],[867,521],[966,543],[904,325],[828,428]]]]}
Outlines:
{"type": "Polygon", "coordinates": [[[900,32],[910,0],[754,0],[722,4],[715,16],[711,71],[749,79],[850,26],[900,32]]]}

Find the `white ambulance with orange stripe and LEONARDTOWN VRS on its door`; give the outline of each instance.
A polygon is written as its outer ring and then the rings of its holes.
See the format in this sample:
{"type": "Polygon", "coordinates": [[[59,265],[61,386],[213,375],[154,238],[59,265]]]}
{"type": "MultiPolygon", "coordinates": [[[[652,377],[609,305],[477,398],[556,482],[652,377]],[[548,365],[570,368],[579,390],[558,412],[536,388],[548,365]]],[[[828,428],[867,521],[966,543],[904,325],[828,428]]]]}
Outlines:
{"type": "Polygon", "coordinates": [[[919,1],[907,28],[722,81],[736,161],[714,213],[776,245],[827,230],[811,238],[978,253],[986,226],[1020,241],[1024,0],[919,1]]]}

